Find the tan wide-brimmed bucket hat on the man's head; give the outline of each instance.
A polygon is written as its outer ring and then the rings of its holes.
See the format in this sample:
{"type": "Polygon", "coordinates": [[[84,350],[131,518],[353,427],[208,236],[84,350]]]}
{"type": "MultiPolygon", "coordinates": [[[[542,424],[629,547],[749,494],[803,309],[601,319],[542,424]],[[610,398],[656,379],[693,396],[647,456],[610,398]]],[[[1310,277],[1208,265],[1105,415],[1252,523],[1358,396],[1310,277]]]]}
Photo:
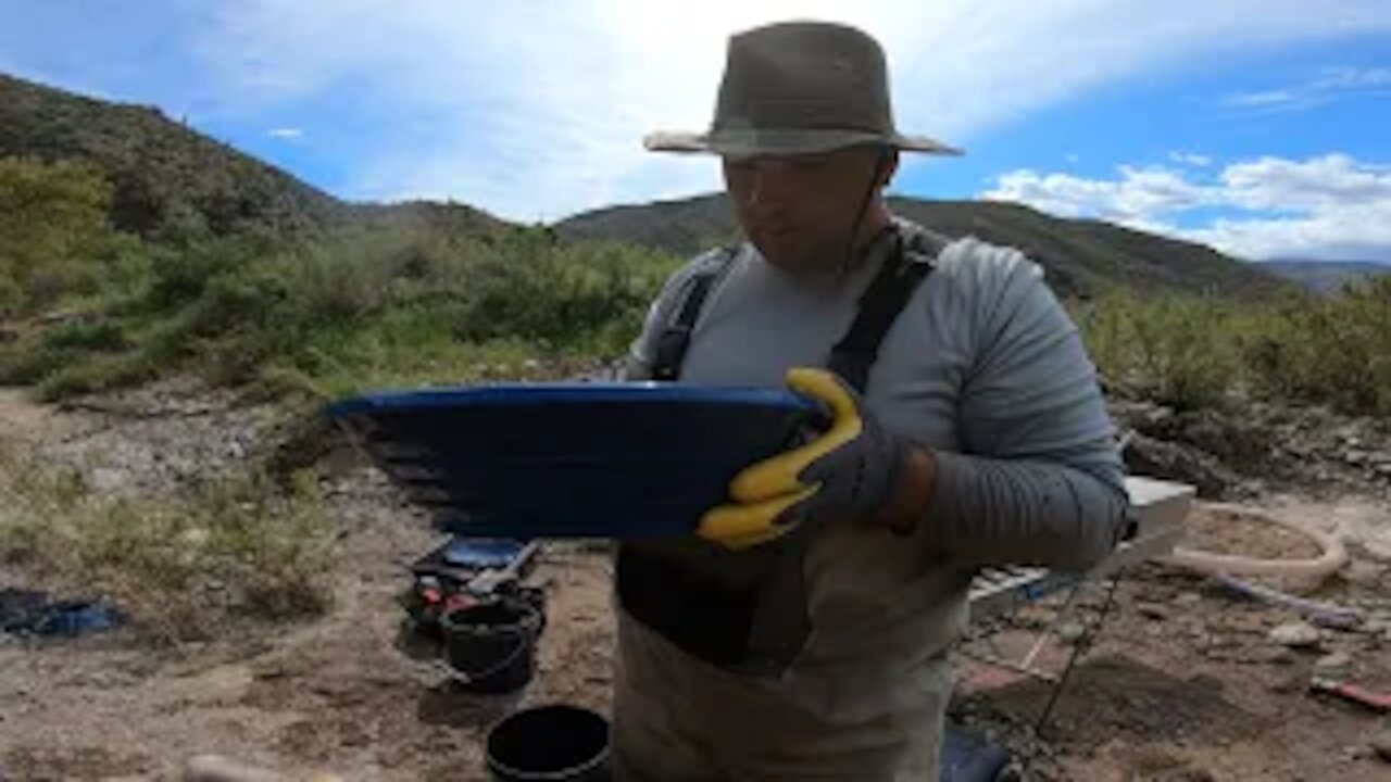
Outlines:
{"type": "Polygon", "coordinates": [[[727,157],[860,145],[961,154],[936,139],[899,134],[883,49],[855,28],[829,22],[780,22],[730,36],[711,128],[654,132],[643,143],[727,157]]]}

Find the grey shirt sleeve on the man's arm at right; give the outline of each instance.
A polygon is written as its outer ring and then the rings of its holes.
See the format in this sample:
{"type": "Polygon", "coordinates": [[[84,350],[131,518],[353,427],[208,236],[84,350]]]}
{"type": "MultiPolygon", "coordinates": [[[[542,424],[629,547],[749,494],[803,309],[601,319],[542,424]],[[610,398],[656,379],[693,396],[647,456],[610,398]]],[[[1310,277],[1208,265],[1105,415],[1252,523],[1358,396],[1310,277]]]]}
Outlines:
{"type": "Polygon", "coordinates": [[[1096,372],[1042,270],[979,242],[958,253],[972,362],[961,452],[936,452],[925,533],[975,565],[1085,570],[1125,525],[1125,469],[1096,372]]]}

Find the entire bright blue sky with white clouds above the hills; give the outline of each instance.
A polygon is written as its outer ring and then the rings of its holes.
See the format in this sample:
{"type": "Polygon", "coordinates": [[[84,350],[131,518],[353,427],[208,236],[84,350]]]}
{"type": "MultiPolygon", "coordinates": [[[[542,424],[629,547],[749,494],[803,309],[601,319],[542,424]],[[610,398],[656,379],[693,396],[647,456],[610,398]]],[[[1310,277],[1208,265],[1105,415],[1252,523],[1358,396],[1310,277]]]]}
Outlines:
{"type": "Polygon", "coordinates": [[[901,128],[968,149],[899,192],[1391,262],[1391,0],[0,0],[0,71],[534,221],[718,188],[640,139],[702,128],[727,35],[797,17],[876,35],[901,128]]]}

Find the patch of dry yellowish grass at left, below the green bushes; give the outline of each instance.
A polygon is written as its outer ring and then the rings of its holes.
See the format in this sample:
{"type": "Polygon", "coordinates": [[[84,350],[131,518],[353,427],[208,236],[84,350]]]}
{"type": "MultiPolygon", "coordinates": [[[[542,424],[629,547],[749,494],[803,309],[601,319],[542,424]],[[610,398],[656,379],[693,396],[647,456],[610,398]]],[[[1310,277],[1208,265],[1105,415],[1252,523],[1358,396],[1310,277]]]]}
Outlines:
{"type": "Polygon", "coordinates": [[[236,476],[189,498],[132,500],[0,447],[0,558],[50,589],[110,598],[159,640],[323,612],[332,540],[307,474],[288,491],[236,476]]]}

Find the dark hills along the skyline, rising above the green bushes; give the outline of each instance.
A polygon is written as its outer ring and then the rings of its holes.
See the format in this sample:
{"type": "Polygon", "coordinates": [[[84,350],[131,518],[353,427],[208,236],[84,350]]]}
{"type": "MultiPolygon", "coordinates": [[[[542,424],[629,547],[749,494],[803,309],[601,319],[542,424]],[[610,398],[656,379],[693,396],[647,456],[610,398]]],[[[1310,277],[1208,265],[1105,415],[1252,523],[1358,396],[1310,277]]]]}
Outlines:
{"type": "MultiPolygon", "coordinates": [[[[472,206],[351,203],[245,154],[159,109],[111,103],[0,75],[0,156],[85,160],[113,184],[115,228],[156,241],[338,227],[488,232],[515,225],[472,206]]],[[[1063,295],[1114,285],[1264,294],[1277,276],[1210,248],[1088,220],[1050,217],[1003,202],[890,198],[897,214],[950,237],[1015,246],[1039,262],[1063,295]]],[[[568,239],[618,239],[690,256],[739,237],[722,193],[616,205],[547,225],[568,239]]]]}

